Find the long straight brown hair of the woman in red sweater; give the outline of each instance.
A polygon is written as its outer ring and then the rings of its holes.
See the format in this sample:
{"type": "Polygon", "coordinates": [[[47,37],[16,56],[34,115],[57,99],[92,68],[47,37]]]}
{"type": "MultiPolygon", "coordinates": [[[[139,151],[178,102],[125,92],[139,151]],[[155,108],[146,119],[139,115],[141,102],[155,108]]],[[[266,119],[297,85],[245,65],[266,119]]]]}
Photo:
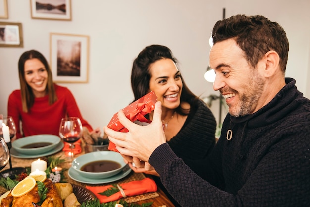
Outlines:
{"type": "Polygon", "coordinates": [[[25,62],[27,60],[37,58],[44,65],[45,69],[48,72],[48,83],[46,87],[46,92],[49,95],[49,104],[52,105],[56,100],[55,87],[52,80],[52,71],[50,66],[45,59],[45,57],[36,50],[29,50],[24,52],[18,61],[18,73],[19,73],[19,82],[20,82],[20,91],[21,91],[21,100],[24,112],[29,112],[30,108],[33,106],[35,101],[35,96],[32,92],[32,88],[27,84],[25,80],[25,62]]]}

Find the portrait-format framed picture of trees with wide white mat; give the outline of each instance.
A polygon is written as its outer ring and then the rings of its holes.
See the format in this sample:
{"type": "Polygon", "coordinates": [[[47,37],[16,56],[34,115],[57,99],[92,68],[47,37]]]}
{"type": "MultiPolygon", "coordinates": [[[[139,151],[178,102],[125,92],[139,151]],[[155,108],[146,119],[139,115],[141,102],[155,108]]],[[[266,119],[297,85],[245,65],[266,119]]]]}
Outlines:
{"type": "Polygon", "coordinates": [[[88,82],[89,36],[51,33],[50,49],[55,82],[88,82]]]}

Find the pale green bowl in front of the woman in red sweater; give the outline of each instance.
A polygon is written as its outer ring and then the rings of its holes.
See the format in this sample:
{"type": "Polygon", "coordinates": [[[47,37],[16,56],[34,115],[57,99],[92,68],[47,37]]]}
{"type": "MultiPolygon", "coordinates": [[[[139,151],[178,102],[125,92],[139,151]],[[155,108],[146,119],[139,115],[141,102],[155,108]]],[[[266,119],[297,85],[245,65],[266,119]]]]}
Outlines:
{"type": "Polygon", "coordinates": [[[21,154],[41,154],[56,148],[60,141],[61,138],[56,135],[32,135],[13,141],[12,147],[21,154]],[[48,145],[42,146],[41,143],[48,145]],[[24,148],[27,146],[31,146],[31,148],[24,148]]]}

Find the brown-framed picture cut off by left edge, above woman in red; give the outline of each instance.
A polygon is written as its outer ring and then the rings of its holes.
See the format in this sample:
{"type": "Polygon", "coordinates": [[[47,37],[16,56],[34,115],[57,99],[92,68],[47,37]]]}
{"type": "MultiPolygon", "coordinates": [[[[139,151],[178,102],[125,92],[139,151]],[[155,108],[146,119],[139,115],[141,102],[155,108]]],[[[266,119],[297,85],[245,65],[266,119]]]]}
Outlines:
{"type": "Polygon", "coordinates": [[[24,47],[21,23],[0,22],[0,47],[24,47]]]}

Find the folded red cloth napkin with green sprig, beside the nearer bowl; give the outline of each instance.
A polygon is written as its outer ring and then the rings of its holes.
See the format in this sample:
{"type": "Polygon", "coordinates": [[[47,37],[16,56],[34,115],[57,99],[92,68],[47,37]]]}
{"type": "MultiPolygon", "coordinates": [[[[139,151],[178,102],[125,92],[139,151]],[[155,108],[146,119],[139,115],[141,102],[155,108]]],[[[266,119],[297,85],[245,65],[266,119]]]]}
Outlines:
{"type": "MultiPolygon", "coordinates": [[[[150,178],[144,178],[142,180],[131,181],[128,183],[119,184],[119,186],[124,190],[126,196],[135,196],[140,195],[148,192],[155,192],[157,191],[157,185],[154,180],[150,178]]],[[[110,201],[116,201],[118,199],[123,198],[120,191],[111,195],[111,196],[104,196],[100,195],[99,193],[107,190],[108,188],[113,187],[112,185],[107,186],[86,186],[86,188],[92,191],[97,198],[99,199],[100,203],[107,203],[110,201]]]]}

